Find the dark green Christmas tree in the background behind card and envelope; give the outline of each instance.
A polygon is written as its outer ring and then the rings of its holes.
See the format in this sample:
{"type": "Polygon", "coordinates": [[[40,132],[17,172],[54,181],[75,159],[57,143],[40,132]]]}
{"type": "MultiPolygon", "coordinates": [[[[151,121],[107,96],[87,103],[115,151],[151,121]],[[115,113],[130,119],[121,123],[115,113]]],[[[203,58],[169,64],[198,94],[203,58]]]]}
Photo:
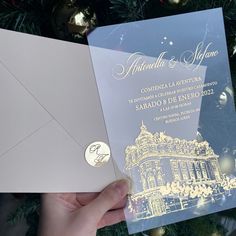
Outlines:
{"type": "MultiPolygon", "coordinates": [[[[236,86],[236,0],[2,0],[0,27],[50,38],[87,44],[87,33],[96,26],[130,22],[222,7],[231,64],[236,86]]],[[[25,218],[27,236],[36,236],[40,195],[27,194],[9,216],[15,224],[25,218]]],[[[221,236],[227,229],[222,217],[236,220],[236,209],[161,227],[135,235],[221,236]]],[[[120,223],[98,231],[102,236],[128,235],[120,223]]]]}

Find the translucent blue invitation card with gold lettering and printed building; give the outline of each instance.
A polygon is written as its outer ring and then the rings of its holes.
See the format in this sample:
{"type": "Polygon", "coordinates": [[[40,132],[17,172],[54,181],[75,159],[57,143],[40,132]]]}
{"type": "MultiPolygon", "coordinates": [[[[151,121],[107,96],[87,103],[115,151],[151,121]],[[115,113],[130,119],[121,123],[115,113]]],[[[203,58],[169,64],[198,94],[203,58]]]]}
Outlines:
{"type": "Polygon", "coordinates": [[[236,117],[221,9],[88,36],[130,233],[236,205],[236,117]]]}

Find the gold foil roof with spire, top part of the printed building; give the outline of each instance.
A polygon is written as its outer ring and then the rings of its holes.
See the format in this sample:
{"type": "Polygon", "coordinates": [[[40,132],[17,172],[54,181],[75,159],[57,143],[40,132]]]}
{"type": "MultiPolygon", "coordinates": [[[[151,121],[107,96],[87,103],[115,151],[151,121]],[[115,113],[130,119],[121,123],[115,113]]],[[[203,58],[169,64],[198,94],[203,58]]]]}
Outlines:
{"type": "Polygon", "coordinates": [[[219,157],[214,153],[207,141],[203,141],[200,133],[196,139],[186,140],[177,137],[169,136],[165,131],[151,133],[148,131],[146,125],[142,121],[140,126],[140,133],[135,139],[135,144],[128,145],[125,148],[126,158],[135,156],[135,159],[142,160],[144,156],[185,156],[190,159],[219,157]],[[149,155],[148,155],[149,154],[149,155]]]}

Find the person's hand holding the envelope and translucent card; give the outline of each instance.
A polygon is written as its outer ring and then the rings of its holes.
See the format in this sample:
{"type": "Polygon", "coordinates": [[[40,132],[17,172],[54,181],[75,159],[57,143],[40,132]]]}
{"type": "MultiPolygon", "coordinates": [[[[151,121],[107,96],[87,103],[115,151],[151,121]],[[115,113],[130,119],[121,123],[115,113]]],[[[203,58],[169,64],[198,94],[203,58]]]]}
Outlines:
{"type": "Polygon", "coordinates": [[[101,193],[43,194],[39,236],[95,236],[124,220],[128,191],[128,182],[120,180],[101,193]]]}

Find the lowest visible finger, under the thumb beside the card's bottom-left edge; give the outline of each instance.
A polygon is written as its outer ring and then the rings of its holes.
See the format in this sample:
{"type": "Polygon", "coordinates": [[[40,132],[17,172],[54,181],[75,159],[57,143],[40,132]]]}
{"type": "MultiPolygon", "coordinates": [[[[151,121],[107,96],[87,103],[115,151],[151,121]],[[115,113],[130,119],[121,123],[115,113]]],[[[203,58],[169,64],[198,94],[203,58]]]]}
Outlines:
{"type": "Polygon", "coordinates": [[[98,229],[103,228],[105,226],[118,224],[124,220],[125,214],[123,209],[108,211],[98,223],[98,229]]]}

